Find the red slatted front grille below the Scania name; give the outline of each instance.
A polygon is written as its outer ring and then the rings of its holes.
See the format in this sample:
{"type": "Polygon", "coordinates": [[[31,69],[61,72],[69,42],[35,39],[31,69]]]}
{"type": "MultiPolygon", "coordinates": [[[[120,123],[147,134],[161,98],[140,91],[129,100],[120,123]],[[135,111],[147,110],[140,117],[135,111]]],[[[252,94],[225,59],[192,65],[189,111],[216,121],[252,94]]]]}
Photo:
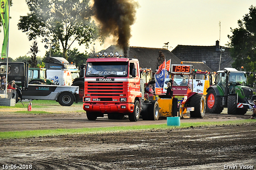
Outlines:
{"type": "MultiPolygon", "coordinates": [[[[125,93],[124,83],[127,82],[88,81],[84,82],[84,92],[90,96],[120,96],[125,93]]],[[[101,101],[112,101],[112,98],[102,98],[101,101]]]]}

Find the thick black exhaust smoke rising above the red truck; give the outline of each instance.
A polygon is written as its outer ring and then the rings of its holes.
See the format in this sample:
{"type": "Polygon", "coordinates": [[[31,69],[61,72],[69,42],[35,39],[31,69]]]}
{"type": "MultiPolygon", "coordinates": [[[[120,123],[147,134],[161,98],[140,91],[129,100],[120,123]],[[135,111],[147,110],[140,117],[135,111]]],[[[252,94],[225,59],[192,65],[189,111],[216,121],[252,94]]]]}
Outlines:
{"type": "Polygon", "coordinates": [[[138,3],[133,0],[94,0],[92,7],[94,16],[101,23],[101,35],[116,37],[117,45],[126,56],[137,7],[138,3]]]}

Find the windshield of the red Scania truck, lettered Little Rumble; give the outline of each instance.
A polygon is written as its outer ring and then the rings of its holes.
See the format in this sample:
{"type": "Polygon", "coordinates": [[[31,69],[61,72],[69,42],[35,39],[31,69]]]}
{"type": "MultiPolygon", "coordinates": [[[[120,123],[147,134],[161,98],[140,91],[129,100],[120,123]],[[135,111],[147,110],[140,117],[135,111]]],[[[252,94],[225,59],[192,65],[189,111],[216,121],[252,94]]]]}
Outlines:
{"type": "Polygon", "coordinates": [[[126,77],[128,62],[91,62],[87,63],[86,77],[118,76],[126,77]]]}

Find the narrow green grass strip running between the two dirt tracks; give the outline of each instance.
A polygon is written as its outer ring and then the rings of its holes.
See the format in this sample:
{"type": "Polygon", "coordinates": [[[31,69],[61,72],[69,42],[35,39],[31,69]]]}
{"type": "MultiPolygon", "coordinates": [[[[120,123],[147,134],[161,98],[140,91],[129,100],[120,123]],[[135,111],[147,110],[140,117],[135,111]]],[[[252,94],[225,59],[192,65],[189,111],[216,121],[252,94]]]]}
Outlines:
{"type": "Polygon", "coordinates": [[[134,125],[134,126],[116,126],[116,127],[8,131],[8,132],[0,132],[0,139],[58,136],[58,135],[64,135],[64,134],[95,134],[95,133],[106,133],[106,132],[125,132],[125,131],[131,131],[131,130],[134,131],[134,130],[150,130],[150,129],[174,129],[174,128],[212,126],[212,125],[238,125],[243,123],[256,123],[256,120],[243,119],[243,120],[236,120],[236,121],[181,123],[179,127],[167,126],[167,124],[161,124],[161,125],[134,125]]]}

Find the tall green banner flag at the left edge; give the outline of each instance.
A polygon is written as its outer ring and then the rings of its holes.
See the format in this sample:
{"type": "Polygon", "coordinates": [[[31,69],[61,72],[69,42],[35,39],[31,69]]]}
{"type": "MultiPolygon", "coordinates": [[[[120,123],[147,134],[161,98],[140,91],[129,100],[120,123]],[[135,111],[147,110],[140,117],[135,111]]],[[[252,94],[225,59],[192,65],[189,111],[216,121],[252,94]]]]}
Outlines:
{"type": "Polygon", "coordinates": [[[9,4],[8,0],[1,0],[0,4],[1,18],[4,26],[4,42],[2,46],[2,57],[7,57],[7,45],[9,38],[9,4]]]}

